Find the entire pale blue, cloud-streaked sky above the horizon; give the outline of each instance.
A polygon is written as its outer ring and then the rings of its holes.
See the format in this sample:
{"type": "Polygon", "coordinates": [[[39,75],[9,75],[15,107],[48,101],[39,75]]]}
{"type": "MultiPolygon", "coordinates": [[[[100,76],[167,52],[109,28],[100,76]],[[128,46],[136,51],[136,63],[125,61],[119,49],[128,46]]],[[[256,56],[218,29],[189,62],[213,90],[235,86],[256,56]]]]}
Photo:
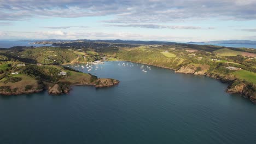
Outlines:
{"type": "Polygon", "coordinates": [[[256,0],[0,0],[0,39],[256,40],[256,0]]]}

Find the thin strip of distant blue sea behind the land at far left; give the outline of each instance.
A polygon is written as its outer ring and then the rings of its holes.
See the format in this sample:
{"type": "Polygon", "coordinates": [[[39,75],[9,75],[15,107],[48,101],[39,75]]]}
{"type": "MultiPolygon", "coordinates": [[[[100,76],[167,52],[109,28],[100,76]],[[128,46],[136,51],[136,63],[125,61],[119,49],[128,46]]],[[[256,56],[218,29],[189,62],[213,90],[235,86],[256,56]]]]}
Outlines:
{"type": "Polygon", "coordinates": [[[30,44],[33,41],[14,41],[14,40],[0,40],[0,48],[10,48],[13,46],[51,46],[43,44],[30,44]]]}

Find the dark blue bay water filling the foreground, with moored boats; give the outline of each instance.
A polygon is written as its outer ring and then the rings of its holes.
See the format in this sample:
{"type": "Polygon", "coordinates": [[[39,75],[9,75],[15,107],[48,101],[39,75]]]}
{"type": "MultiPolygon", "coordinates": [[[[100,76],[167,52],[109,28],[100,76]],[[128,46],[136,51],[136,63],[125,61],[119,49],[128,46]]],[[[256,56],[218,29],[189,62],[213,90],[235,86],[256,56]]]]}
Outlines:
{"type": "Polygon", "coordinates": [[[90,71],[118,86],[0,97],[0,143],[255,143],[256,106],[226,84],[118,63],[90,71]]]}

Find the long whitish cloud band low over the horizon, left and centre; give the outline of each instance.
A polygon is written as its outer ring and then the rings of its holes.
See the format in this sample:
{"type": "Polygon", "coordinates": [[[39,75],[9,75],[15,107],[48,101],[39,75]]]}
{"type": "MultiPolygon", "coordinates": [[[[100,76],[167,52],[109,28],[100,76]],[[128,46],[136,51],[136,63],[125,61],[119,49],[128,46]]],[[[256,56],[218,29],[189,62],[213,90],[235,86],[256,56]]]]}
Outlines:
{"type": "Polygon", "coordinates": [[[21,39],[124,39],[124,40],[167,40],[167,41],[186,41],[191,37],[178,37],[176,35],[158,35],[141,34],[127,32],[63,32],[63,31],[45,31],[45,32],[0,32],[0,39],[15,37],[21,39]],[[6,35],[8,34],[8,35],[6,35]]]}

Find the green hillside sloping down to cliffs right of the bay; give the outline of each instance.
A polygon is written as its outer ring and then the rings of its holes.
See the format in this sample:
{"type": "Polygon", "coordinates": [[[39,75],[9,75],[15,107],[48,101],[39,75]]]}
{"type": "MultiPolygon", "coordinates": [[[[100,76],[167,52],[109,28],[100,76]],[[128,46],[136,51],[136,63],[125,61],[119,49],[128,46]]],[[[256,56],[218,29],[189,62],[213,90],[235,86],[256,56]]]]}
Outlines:
{"type": "Polygon", "coordinates": [[[206,75],[230,84],[230,93],[256,101],[256,55],[220,47],[141,46],[106,49],[111,59],[145,63],[176,70],[177,73],[206,75]],[[215,50],[214,50],[215,49],[215,50]],[[238,86],[238,87],[237,87],[238,86]]]}

